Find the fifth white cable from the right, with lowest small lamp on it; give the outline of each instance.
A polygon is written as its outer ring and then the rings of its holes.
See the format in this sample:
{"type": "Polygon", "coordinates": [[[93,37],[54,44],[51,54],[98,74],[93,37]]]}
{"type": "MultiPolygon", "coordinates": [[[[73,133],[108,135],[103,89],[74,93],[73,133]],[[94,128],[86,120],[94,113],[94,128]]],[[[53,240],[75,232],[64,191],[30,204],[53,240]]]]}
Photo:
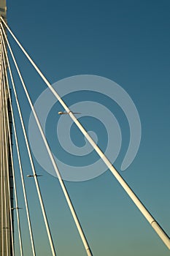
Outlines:
{"type": "MultiPolygon", "coordinates": [[[[4,49],[3,48],[2,48],[2,55],[4,56],[4,49]]],[[[6,69],[6,78],[7,78],[7,69],[6,69]]],[[[7,80],[7,86],[8,86],[8,80],[7,80]]],[[[9,91],[8,91],[8,93],[9,93],[9,96],[10,96],[9,91]]],[[[12,106],[10,106],[10,108],[11,107],[12,106]]],[[[14,184],[14,192],[15,192],[15,209],[16,209],[17,222],[18,222],[18,236],[19,236],[19,244],[20,244],[20,255],[23,256],[23,243],[22,243],[21,230],[20,230],[20,214],[19,214],[19,209],[18,209],[18,195],[17,195],[17,186],[16,186],[16,181],[15,181],[15,168],[14,168],[14,161],[13,161],[13,154],[12,154],[12,139],[11,139],[11,134],[10,134],[9,123],[8,123],[8,133],[9,133],[9,149],[10,149],[11,164],[12,164],[12,176],[13,176],[13,184],[14,184]]]]}

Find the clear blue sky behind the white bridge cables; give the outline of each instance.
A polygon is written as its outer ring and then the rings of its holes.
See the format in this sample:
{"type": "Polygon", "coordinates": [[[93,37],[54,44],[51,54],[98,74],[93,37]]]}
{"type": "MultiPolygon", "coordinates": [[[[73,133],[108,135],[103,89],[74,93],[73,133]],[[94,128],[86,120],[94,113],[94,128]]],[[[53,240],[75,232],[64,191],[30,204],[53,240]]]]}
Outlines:
{"type": "MultiPolygon", "coordinates": [[[[86,98],[85,94],[83,96],[70,94],[65,98],[68,105],[79,102],[81,97],[86,100],[101,101],[102,105],[115,114],[123,135],[120,155],[114,163],[115,167],[170,235],[169,13],[168,0],[7,1],[9,26],[50,83],[73,75],[98,75],[114,80],[133,99],[141,119],[142,140],[134,162],[122,172],[120,166],[129,142],[129,127],[123,112],[117,105],[109,103],[109,99],[90,93],[86,98]]],[[[11,37],[9,39],[18,55],[18,64],[23,71],[31,99],[35,102],[46,86],[24,59],[11,37]]],[[[31,110],[19,82],[17,87],[28,131],[31,110]]],[[[26,176],[31,170],[14,97],[13,105],[26,176]]],[[[57,138],[55,138],[59,110],[60,107],[56,105],[48,117],[46,127],[47,138],[55,155],[60,154],[57,151],[57,138]]],[[[94,124],[94,128],[98,128],[101,148],[106,147],[107,137],[104,135],[106,132],[104,127],[101,126],[100,131],[95,119],[84,119],[83,122],[87,129],[93,129],[91,124],[94,124]]],[[[77,130],[72,127],[74,143],[78,146],[83,145],[83,138],[76,139],[76,135],[77,130]]],[[[41,148],[39,151],[41,152],[41,148]]],[[[15,145],[14,157],[16,157],[15,145]]],[[[93,159],[96,160],[96,156],[92,155],[90,161],[93,159]]],[[[76,158],[74,161],[66,157],[66,161],[76,162],[76,158]]],[[[79,161],[81,162],[80,159],[79,161]]],[[[83,161],[88,161],[88,158],[83,161]]],[[[50,176],[36,160],[35,165],[37,173],[43,175],[39,178],[39,184],[57,255],[85,255],[57,178],[50,176]]],[[[15,167],[17,170],[17,162],[15,167]]],[[[24,207],[18,174],[17,177],[20,206],[24,207]]],[[[109,170],[89,181],[65,183],[93,255],[169,255],[169,250],[109,170]]],[[[37,255],[50,255],[33,179],[26,178],[26,189],[37,255]]],[[[23,225],[24,252],[27,256],[31,255],[31,249],[24,209],[20,211],[20,216],[23,225]]],[[[15,247],[16,255],[19,255],[17,236],[15,236],[15,247]]]]}

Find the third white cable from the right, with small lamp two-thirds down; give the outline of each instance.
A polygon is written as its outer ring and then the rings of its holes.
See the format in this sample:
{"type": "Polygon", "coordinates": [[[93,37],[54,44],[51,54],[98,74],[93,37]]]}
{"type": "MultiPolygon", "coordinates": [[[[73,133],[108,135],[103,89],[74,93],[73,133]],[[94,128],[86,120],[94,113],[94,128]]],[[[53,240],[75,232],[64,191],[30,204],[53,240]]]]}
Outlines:
{"type": "MultiPolygon", "coordinates": [[[[3,43],[3,46],[4,46],[4,39],[2,39],[2,43],[3,43]]],[[[35,170],[35,167],[34,167],[34,162],[33,162],[32,156],[31,156],[31,149],[30,149],[30,146],[29,146],[29,143],[28,143],[28,137],[26,135],[26,128],[25,128],[25,125],[23,123],[23,116],[22,116],[22,113],[21,113],[21,110],[20,110],[20,105],[19,105],[19,102],[18,102],[18,96],[17,96],[17,93],[15,91],[15,83],[14,83],[14,80],[13,80],[13,77],[12,77],[12,71],[11,71],[11,67],[10,67],[10,64],[9,64],[9,59],[7,57],[7,51],[4,47],[2,49],[3,49],[3,52],[5,51],[5,56],[6,56],[7,64],[8,64],[8,67],[9,67],[9,75],[10,75],[10,78],[11,78],[11,81],[12,81],[12,87],[13,87],[14,93],[15,93],[15,99],[16,99],[17,106],[18,106],[18,113],[19,113],[19,116],[20,116],[20,122],[21,122],[21,126],[22,126],[22,129],[23,129],[23,135],[24,135],[24,138],[25,138],[25,141],[26,141],[26,148],[27,148],[27,151],[28,151],[28,157],[29,157],[30,162],[31,162],[31,169],[32,169],[33,176],[34,176],[34,181],[35,181],[35,184],[36,184],[36,190],[37,190],[37,194],[38,194],[38,197],[39,197],[39,203],[40,203],[40,206],[41,206],[41,209],[42,209],[42,215],[43,215],[43,218],[44,218],[44,221],[45,221],[45,227],[46,227],[47,236],[48,236],[48,239],[49,239],[49,242],[50,242],[51,252],[52,252],[52,255],[55,256],[56,253],[55,253],[55,247],[54,247],[54,244],[53,244],[53,238],[52,238],[51,233],[50,233],[50,227],[49,227],[48,220],[47,220],[47,214],[46,214],[45,206],[44,206],[44,203],[43,203],[43,200],[42,200],[42,193],[41,193],[40,188],[39,188],[39,181],[38,181],[38,178],[36,176],[36,170],[35,170]]],[[[7,75],[7,69],[5,70],[5,72],[6,72],[6,75],[7,75]]],[[[9,92],[9,84],[7,86],[7,89],[8,89],[8,92],[9,92]]],[[[10,94],[9,94],[9,104],[10,104],[10,108],[12,110],[12,100],[11,100],[10,94]]],[[[12,123],[15,127],[15,118],[14,118],[13,110],[12,110],[12,123]]]]}

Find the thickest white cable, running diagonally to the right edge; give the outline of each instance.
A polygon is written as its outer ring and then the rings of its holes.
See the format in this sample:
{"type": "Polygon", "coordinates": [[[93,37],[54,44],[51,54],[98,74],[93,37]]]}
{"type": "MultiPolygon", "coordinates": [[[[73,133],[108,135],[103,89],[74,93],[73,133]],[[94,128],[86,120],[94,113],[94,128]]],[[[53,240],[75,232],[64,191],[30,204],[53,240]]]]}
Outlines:
{"type": "MultiPolygon", "coordinates": [[[[131,200],[135,203],[137,208],[141,211],[141,213],[144,215],[144,217],[147,219],[147,221],[150,223],[152,228],[155,230],[155,232],[160,236],[164,244],[170,249],[170,238],[169,236],[165,233],[163,228],[158,225],[158,222],[152,217],[150,212],[147,210],[147,208],[144,206],[144,204],[139,200],[139,198],[135,195],[134,191],[131,189],[131,187],[128,186],[128,184],[125,182],[122,176],[117,172],[115,167],[112,165],[111,162],[109,162],[109,159],[104,155],[104,153],[101,151],[101,149],[96,145],[96,143],[93,141],[92,138],[90,138],[90,135],[88,135],[88,132],[82,127],[82,124],[80,124],[80,121],[77,120],[76,116],[72,113],[71,110],[66,106],[65,102],[61,99],[61,97],[56,93],[56,91],[53,89],[53,87],[50,85],[48,80],[45,78],[45,76],[42,74],[42,72],[39,70],[39,68],[36,66],[34,61],[31,59],[30,56],[28,56],[28,53],[26,53],[26,50],[23,48],[22,45],[20,45],[20,42],[18,39],[15,37],[15,35],[12,33],[12,31],[9,29],[9,26],[7,26],[7,23],[4,22],[3,18],[1,20],[4,23],[4,26],[8,29],[9,33],[12,35],[12,37],[15,39],[15,42],[19,45],[20,49],[23,50],[23,53],[25,53],[26,57],[28,58],[29,61],[31,61],[31,64],[34,66],[36,71],[39,73],[41,78],[45,81],[47,86],[50,88],[50,90],[53,92],[55,97],[58,99],[59,102],[61,102],[61,105],[63,108],[66,110],[67,113],[69,113],[69,116],[72,118],[75,124],[77,124],[77,127],[80,129],[83,135],[85,135],[85,138],[87,138],[88,142],[90,143],[91,146],[93,146],[94,150],[97,152],[99,157],[104,161],[104,163],[107,165],[108,169],[111,171],[111,173],[115,176],[117,181],[119,181],[120,185],[125,189],[125,192],[128,194],[129,197],[131,197],[131,200]]],[[[1,25],[2,26],[2,25],[1,25]]]]}

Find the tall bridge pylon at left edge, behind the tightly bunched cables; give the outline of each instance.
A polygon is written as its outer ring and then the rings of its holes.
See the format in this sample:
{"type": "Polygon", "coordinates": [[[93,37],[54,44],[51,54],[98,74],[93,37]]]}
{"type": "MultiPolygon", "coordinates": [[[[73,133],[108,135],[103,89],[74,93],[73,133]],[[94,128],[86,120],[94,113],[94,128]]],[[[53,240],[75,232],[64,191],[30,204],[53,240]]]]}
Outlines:
{"type": "MultiPolygon", "coordinates": [[[[0,16],[7,20],[6,0],[0,0],[0,16]]],[[[2,42],[0,40],[0,255],[11,256],[14,253],[12,253],[13,178],[8,127],[10,127],[12,134],[12,121],[8,102],[7,78],[3,72],[4,64],[2,42]],[[4,97],[5,93],[7,98],[4,97]],[[9,126],[7,123],[9,123],[9,126]]]]}

